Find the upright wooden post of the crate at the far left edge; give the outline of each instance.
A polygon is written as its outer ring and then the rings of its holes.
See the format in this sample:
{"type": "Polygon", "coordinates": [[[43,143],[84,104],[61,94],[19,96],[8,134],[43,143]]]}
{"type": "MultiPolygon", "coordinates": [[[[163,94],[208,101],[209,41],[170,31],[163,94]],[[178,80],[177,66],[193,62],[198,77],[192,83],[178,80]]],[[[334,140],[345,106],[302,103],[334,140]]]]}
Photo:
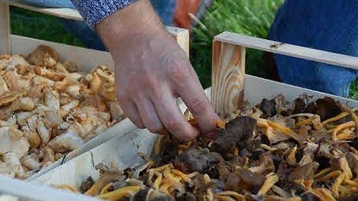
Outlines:
{"type": "Polygon", "coordinates": [[[10,10],[0,1],[0,54],[10,54],[10,10]]]}

